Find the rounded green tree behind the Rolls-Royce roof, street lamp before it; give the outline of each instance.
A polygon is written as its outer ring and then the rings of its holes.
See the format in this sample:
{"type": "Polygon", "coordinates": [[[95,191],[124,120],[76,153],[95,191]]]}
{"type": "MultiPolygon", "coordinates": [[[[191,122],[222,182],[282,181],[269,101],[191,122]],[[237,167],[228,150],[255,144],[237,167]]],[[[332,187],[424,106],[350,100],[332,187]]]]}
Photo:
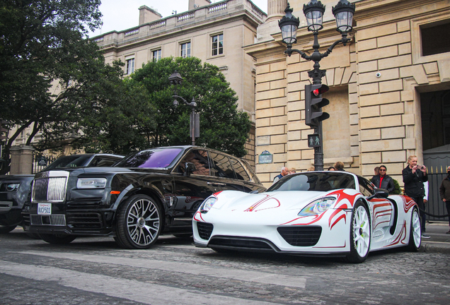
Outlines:
{"type": "Polygon", "coordinates": [[[237,157],[246,155],[244,144],[250,131],[248,114],[237,109],[238,97],[226,82],[217,66],[204,63],[195,57],[164,58],[151,61],[132,75],[132,82],[143,85],[149,101],[157,109],[156,127],[149,133],[151,146],[189,145],[190,107],[180,102],[173,107],[173,88],[168,77],[178,71],[183,84],[178,95],[188,102],[195,98],[196,111],[200,113],[200,138],[196,145],[207,146],[237,157]]]}

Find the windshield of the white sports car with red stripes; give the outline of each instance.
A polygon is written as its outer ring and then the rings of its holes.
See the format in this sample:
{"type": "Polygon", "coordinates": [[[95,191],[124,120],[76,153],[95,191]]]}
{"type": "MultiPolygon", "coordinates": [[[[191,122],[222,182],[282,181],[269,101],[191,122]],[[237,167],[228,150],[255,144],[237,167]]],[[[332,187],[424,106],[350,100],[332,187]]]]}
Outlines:
{"type": "Polygon", "coordinates": [[[292,174],[270,186],[267,191],[332,191],[355,189],[354,177],[342,172],[292,174]]]}

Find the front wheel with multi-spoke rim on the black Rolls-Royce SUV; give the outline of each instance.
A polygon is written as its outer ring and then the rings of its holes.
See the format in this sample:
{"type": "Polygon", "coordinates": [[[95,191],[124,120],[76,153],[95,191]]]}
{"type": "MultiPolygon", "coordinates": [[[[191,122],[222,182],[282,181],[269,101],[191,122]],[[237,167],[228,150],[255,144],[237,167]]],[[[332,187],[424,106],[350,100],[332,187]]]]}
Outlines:
{"type": "Polygon", "coordinates": [[[163,226],[161,205],[146,195],[127,199],[117,212],[117,244],[125,249],[149,249],[163,226]]]}

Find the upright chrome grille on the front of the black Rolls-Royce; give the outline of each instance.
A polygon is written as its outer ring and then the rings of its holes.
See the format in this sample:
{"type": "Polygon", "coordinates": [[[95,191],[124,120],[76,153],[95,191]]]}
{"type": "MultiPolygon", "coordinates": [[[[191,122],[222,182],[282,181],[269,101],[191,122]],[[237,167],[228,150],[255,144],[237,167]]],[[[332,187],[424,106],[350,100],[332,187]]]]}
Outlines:
{"type": "Polygon", "coordinates": [[[64,198],[66,198],[66,181],[67,177],[35,179],[33,201],[64,201],[64,198]]]}

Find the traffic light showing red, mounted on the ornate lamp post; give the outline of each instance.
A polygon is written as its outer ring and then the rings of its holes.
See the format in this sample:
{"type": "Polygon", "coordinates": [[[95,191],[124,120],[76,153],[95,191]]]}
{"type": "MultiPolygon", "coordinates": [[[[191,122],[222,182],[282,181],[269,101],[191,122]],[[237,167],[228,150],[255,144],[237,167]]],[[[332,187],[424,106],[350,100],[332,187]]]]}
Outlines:
{"type": "Polygon", "coordinates": [[[322,93],[327,91],[328,85],[305,85],[306,125],[318,127],[321,121],[330,117],[330,114],[321,109],[330,104],[329,100],[322,97],[322,93]]]}

